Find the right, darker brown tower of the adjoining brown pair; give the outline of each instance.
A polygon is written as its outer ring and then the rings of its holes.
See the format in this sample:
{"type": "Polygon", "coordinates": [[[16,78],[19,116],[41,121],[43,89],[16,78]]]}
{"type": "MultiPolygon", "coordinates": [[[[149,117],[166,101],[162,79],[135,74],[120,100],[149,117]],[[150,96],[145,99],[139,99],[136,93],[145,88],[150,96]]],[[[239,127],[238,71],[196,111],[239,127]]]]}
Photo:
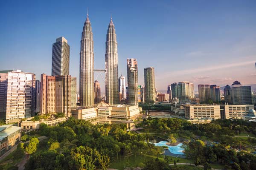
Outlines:
{"type": "Polygon", "coordinates": [[[71,76],[55,77],[55,112],[71,116],[71,76]]]}

